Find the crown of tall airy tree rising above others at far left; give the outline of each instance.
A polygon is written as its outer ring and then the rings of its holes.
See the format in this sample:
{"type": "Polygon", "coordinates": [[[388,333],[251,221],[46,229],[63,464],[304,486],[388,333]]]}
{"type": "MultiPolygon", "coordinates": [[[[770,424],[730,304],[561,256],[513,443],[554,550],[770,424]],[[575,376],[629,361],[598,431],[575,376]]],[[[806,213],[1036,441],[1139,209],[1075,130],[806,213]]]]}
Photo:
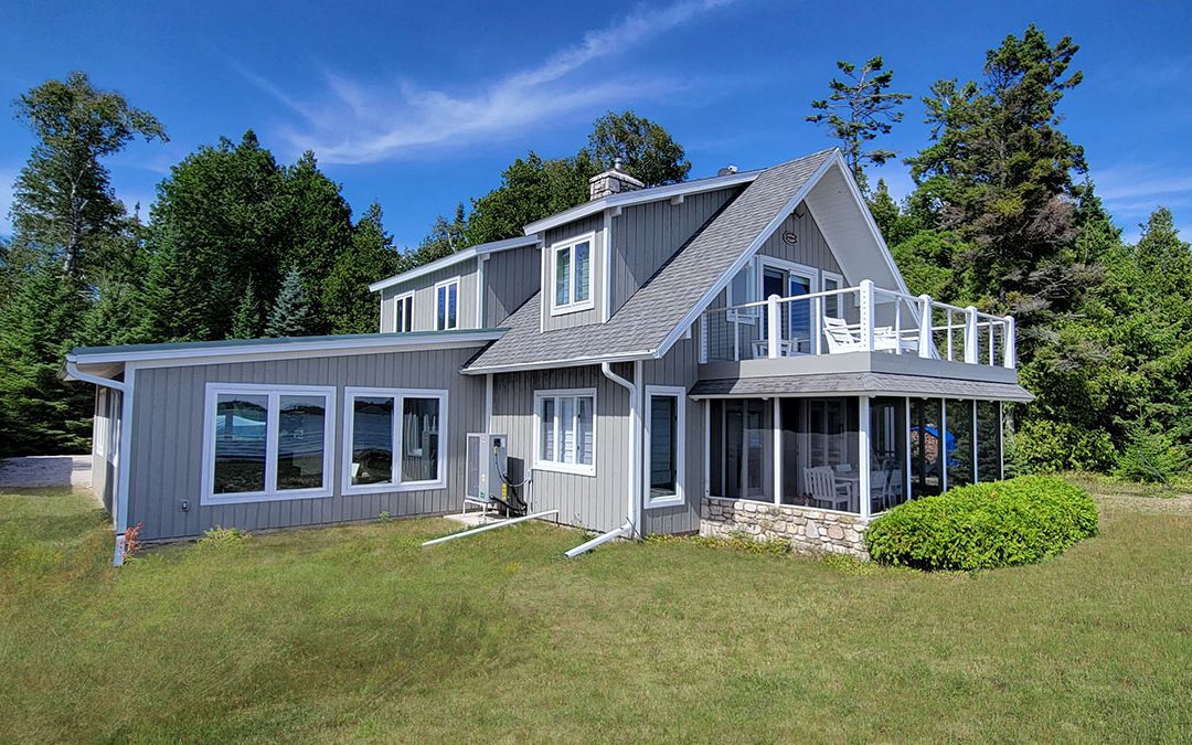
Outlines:
{"type": "Polygon", "coordinates": [[[17,99],[17,118],[37,144],[13,191],[15,242],[61,261],[73,277],[88,263],[103,268],[105,238],[119,231],[124,205],[100,160],[137,136],[166,141],[164,128],[85,73],[30,89],[17,99]]]}

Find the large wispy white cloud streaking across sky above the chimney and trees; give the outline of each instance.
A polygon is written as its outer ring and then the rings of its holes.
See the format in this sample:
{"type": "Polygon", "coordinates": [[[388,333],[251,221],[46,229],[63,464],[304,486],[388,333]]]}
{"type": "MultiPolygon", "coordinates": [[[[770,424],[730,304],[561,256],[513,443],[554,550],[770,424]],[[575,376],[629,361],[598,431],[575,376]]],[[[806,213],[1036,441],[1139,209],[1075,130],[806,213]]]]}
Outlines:
{"type": "Polygon", "coordinates": [[[652,37],[733,0],[682,0],[662,8],[640,6],[607,27],[592,30],[540,64],[514,72],[470,93],[428,88],[405,80],[360,83],[325,73],[327,93],[310,103],[260,75],[244,76],[298,114],[283,131],[296,150],[315,150],[323,162],[371,163],[420,149],[467,147],[526,131],[528,126],[601,106],[672,92],[688,81],[617,74],[584,75],[584,68],[622,55],[652,37]]]}

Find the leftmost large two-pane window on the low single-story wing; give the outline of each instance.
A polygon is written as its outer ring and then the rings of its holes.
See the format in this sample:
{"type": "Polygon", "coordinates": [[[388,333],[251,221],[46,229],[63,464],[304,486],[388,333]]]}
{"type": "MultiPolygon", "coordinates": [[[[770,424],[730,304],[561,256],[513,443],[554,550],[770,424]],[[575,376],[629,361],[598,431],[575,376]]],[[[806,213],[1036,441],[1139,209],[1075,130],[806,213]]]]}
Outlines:
{"type": "Polygon", "coordinates": [[[335,390],[209,384],[203,504],[331,493],[335,390]]]}

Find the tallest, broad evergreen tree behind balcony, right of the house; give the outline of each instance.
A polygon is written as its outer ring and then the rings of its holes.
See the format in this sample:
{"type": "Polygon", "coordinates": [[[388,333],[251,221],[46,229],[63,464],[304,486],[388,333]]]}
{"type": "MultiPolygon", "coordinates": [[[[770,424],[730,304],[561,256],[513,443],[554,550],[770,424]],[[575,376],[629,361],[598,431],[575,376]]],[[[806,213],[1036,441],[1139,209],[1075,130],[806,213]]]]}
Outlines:
{"type": "MultiPolygon", "coordinates": [[[[1068,37],[1051,45],[1032,25],[987,54],[981,82],[936,82],[924,99],[933,142],[908,159],[930,226],[969,246],[960,299],[1018,313],[1028,342],[1078,305],[1091,279],[1070,253],[1084,149],[1056,111],[1081,81],[1068,72],[1078,49],[1068,37]]],[[[1020,348],[1029,358],[1032,346],[1020,348]]]]}

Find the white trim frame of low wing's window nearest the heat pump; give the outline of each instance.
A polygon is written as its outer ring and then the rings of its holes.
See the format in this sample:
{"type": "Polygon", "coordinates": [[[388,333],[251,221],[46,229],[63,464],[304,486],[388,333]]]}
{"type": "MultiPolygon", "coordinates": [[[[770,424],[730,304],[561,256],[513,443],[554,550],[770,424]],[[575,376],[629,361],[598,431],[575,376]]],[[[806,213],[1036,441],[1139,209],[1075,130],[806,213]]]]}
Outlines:
{"type": "Polygon", "coordinates": [[[428,489],[447,488],[447,391],[443,389],[377,389],[348,386],[343,389],[343,467],[340,479],[341,493],[391,493],[398,491],[424,491],[428,489]],[[352,483],[352,435],[355,426],[355,409],[352,405],[354,398],[392,398],[393,399],[393,462],[391,465],[390,482],[385,484],[352,483]],[[437,398],[439,399],[439,478],[423,482],[402,480],[402,446],[403,427],[405,426],[404,401],[406,398],[437,398]]]}

